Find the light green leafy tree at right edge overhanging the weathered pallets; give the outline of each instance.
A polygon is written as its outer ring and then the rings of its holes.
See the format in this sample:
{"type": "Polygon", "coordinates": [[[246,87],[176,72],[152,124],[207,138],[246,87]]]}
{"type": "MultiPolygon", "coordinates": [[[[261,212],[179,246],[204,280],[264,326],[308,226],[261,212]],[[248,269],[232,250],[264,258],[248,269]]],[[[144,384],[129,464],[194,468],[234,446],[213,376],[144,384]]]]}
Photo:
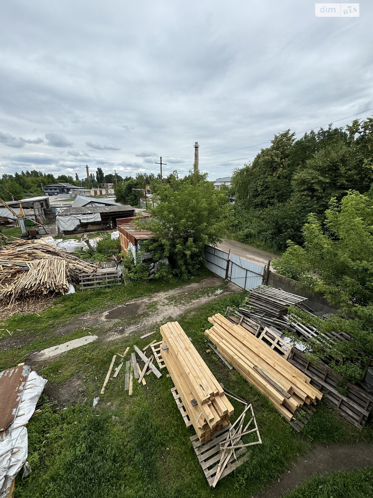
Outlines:
{"type": "Polygon", "coordinates": [[[320,344],[318,337],[312,349],[318,359],[332,357],[331,367],[356,382],[373,356],[373,192],[350,191],[341,202],[331,199],[325,222],[310,214],[302,232],[304,247],[290,244],[273,265],[340,307],[339,315],[312,319],[312,324],[320,332],[341,330],[352,340],[320,344]]]}

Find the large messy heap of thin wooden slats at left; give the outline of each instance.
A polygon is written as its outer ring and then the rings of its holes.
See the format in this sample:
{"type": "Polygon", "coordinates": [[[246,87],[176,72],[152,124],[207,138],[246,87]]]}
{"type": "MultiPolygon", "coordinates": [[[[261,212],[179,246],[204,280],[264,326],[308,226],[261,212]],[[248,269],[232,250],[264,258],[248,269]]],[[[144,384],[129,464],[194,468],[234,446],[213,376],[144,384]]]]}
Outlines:
{"type": "Polygon", "coordinates": [[[0,248],[0,306],[8,312],[24,311],[29,303],[64,294],[68,279],[74,280],[77,273],[96,269],[95,264],[45,242],[17,239],[0,248]]]}

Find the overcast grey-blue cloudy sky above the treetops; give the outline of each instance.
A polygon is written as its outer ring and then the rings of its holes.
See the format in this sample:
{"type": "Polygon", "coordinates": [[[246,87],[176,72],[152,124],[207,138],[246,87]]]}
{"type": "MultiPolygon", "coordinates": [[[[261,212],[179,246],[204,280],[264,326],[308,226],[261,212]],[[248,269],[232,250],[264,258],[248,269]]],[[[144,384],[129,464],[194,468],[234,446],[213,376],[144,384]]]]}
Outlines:
{"type": "Polygon", "coordinates": [[[373,108],[372,19],[372,0],[355,18],[309,0],[2,0],[0,174],[157,173],[162,155],[183,176],[198,141],[200,170],[228,176],[274,133],[373,108]]]}

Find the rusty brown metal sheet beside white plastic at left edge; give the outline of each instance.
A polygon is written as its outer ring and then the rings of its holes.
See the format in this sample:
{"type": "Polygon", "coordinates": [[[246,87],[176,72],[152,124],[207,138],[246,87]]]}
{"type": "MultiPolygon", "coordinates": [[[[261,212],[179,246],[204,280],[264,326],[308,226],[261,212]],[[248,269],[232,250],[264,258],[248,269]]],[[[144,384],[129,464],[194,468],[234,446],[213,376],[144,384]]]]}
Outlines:
{"type": "Polygon", "coordinates": [[[0,372],[0,441],[17,415],[30,370],[28,365],[19,365],[0,372]]]}

